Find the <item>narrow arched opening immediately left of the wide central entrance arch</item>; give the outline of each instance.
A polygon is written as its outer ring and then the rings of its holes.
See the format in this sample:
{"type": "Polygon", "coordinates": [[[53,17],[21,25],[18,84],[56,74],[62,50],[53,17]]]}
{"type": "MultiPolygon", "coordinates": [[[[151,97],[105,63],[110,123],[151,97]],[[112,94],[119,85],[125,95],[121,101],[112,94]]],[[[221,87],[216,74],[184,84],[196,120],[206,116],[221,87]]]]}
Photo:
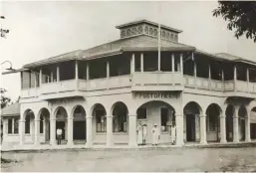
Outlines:
{"type": "Polygon", "coordinates": [[[128,107],[124,102],[117,102],[113,109],[113,132],[128,131],[128,107]]]}

